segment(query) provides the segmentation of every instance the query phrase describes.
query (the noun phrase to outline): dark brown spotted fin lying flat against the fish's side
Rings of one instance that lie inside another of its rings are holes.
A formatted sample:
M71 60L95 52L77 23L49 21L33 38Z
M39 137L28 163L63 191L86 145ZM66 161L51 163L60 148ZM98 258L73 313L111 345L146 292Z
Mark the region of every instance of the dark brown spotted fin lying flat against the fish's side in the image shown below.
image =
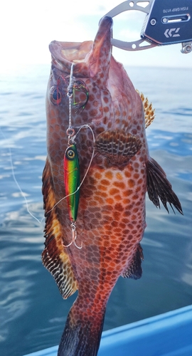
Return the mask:
M117 166L127 164L141 147L138 137L123 130L104 131L95 140L95 150Z

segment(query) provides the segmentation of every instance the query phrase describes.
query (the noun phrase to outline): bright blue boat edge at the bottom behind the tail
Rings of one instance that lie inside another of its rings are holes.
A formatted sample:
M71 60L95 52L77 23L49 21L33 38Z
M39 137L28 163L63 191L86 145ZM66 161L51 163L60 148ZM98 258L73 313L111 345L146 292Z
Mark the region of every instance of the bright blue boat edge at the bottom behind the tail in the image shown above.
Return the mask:
M58 346L25 356L56 356ZM191 356L192 305L107 330L98 356Z

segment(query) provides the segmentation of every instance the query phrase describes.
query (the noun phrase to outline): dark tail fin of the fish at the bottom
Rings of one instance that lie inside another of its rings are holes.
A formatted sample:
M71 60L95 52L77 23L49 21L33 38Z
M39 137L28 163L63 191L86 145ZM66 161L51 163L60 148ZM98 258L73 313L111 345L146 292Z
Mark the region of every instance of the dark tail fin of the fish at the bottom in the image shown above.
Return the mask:
M80 310L78 303L70 309L60 340L58 356L97 356L105 318L97 310Z

